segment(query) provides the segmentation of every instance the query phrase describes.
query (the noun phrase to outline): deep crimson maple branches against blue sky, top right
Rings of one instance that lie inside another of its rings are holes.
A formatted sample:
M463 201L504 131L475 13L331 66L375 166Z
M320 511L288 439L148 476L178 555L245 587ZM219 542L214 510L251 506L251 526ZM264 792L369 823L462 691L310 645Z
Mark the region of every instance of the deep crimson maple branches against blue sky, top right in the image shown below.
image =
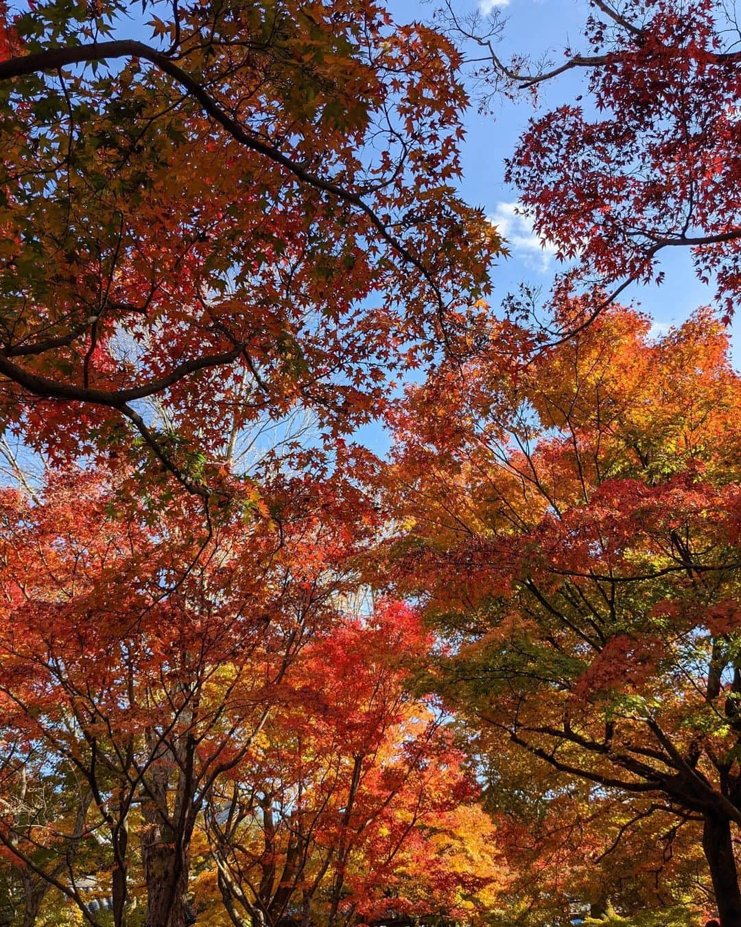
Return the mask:
M584 75L584 94L537 113L507 161L536 234L566 261L553 303L564 293L588 296L564 322L584 324L633 281L660 281L662 252L686 248L729 319L741 236L734 11L721 0L589 7L584 47L548 52L545 64L501 54L498 13L487 24L450 4L445 18L473 46L484 108L490 95L536 98L565 72Z

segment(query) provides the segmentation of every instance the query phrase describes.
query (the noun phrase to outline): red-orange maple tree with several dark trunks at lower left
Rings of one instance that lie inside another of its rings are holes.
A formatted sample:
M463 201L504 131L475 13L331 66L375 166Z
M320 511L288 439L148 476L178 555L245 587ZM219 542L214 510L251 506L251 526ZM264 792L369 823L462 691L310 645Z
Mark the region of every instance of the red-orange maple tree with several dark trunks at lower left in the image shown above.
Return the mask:
M206 547L191 496L180 510L170 500L121 511L110 473L77 471L50 476L38 504L6 490L6 767L22 773L28 744L47 768L72 769L91 796L82 831L68 820L19 834L8 795L0 840L91 923L79 878L86 858L70 848L94 833L106 838L116 924L126 920L136 852L147 924L182 927L205 796L249 750L297 654L331 627L345 558L367 534L358 490L345 489L284 477L270 495L280 527L225 508Z

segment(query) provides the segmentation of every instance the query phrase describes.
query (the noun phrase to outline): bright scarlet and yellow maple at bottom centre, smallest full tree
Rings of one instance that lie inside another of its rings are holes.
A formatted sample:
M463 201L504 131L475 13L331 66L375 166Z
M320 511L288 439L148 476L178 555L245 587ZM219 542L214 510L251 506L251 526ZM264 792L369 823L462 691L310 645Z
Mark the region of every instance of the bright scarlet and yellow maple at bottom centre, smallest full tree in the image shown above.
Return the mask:
M443 717L405 689L429 642L413 610L381 603L306 648L282 710L207 796L236 927L475 921L496 903L494 825Z

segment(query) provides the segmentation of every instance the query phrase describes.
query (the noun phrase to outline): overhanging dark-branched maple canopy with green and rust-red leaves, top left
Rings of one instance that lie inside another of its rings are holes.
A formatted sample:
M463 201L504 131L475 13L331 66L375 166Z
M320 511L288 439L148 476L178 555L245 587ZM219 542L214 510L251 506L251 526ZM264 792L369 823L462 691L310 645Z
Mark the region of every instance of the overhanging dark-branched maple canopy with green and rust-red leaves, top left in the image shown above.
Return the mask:
M368 0L0 23L6 428L57 458L138 447L207 495L222 422L304 406L349 431L458 344L498 241L453 188L440 34Z

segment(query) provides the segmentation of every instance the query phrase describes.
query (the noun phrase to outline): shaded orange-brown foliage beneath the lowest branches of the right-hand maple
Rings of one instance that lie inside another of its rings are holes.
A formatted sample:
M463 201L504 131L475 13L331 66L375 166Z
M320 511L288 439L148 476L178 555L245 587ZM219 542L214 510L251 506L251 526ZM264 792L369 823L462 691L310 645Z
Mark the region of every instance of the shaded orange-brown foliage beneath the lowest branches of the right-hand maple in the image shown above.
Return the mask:
M626 927L704 922L707 863L697 832L643 817L624 795L559 777L525 751L492 749L481 731L470 737L484 757L487 802L512 873L497 925L555 927L577 916Z

